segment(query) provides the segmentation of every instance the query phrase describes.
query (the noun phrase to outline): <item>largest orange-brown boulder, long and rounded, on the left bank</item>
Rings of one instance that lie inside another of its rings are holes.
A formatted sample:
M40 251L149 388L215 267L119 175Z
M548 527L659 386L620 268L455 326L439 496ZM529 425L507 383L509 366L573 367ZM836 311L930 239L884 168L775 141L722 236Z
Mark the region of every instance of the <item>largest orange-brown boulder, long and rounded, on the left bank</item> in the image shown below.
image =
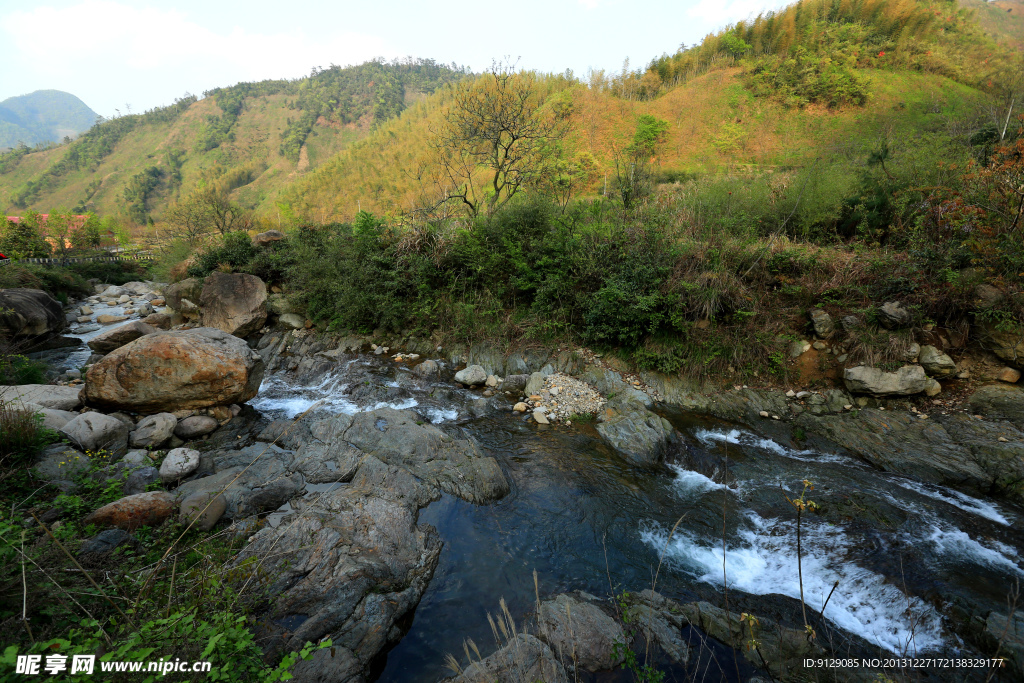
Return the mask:
M263 360L220 330L157 332L112 351L85 375L90 405L173 413L243 403L259 391Z

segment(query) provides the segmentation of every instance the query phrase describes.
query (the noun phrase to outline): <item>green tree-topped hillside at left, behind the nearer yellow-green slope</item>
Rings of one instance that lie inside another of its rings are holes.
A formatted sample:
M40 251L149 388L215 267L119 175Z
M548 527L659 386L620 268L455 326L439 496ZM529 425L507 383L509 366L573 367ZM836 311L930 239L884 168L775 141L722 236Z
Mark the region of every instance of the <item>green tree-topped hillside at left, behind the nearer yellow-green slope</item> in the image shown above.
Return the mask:
M216 181L244 207L271 210L283 186L464 75L432 60L377 60L184 97L103 121L70 144L0 156L0 206L143 223Z

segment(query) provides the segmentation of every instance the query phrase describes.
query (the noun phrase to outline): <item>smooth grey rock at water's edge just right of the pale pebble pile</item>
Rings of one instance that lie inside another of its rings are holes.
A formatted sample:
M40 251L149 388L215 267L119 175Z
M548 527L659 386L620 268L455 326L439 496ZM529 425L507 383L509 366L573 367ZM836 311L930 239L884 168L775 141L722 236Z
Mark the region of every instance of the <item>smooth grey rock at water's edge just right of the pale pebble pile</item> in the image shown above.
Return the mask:
M609 402L599 413L597 433L637 467L654 467L665 457L674 429L635 400Z

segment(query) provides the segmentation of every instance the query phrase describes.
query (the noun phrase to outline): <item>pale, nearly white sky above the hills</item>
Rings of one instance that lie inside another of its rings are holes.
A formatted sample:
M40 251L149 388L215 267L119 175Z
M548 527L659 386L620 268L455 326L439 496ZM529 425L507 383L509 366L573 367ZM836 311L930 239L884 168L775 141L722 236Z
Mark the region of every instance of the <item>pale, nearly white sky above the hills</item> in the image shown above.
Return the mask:
M112 117L313 67L495 59L585 77L643 68L785 0L0 0L0 100L55 89Z

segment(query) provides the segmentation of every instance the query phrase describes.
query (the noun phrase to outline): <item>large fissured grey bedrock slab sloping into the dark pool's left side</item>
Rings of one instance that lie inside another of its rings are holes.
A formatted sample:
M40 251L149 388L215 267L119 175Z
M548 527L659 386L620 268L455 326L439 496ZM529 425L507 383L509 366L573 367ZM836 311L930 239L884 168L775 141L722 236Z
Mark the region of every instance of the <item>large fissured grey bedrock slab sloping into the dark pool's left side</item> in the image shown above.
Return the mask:
M236 565L256 558L270 578L258 634L269 655L334 643L298 663L296 680L367 680L375 656L400 637L396 623L416 607L440 554L436 530L417 524L419 508L436 498L403 468L368 457L349 486L257 531L239 553ZM281 624L296 614L303 618Z

